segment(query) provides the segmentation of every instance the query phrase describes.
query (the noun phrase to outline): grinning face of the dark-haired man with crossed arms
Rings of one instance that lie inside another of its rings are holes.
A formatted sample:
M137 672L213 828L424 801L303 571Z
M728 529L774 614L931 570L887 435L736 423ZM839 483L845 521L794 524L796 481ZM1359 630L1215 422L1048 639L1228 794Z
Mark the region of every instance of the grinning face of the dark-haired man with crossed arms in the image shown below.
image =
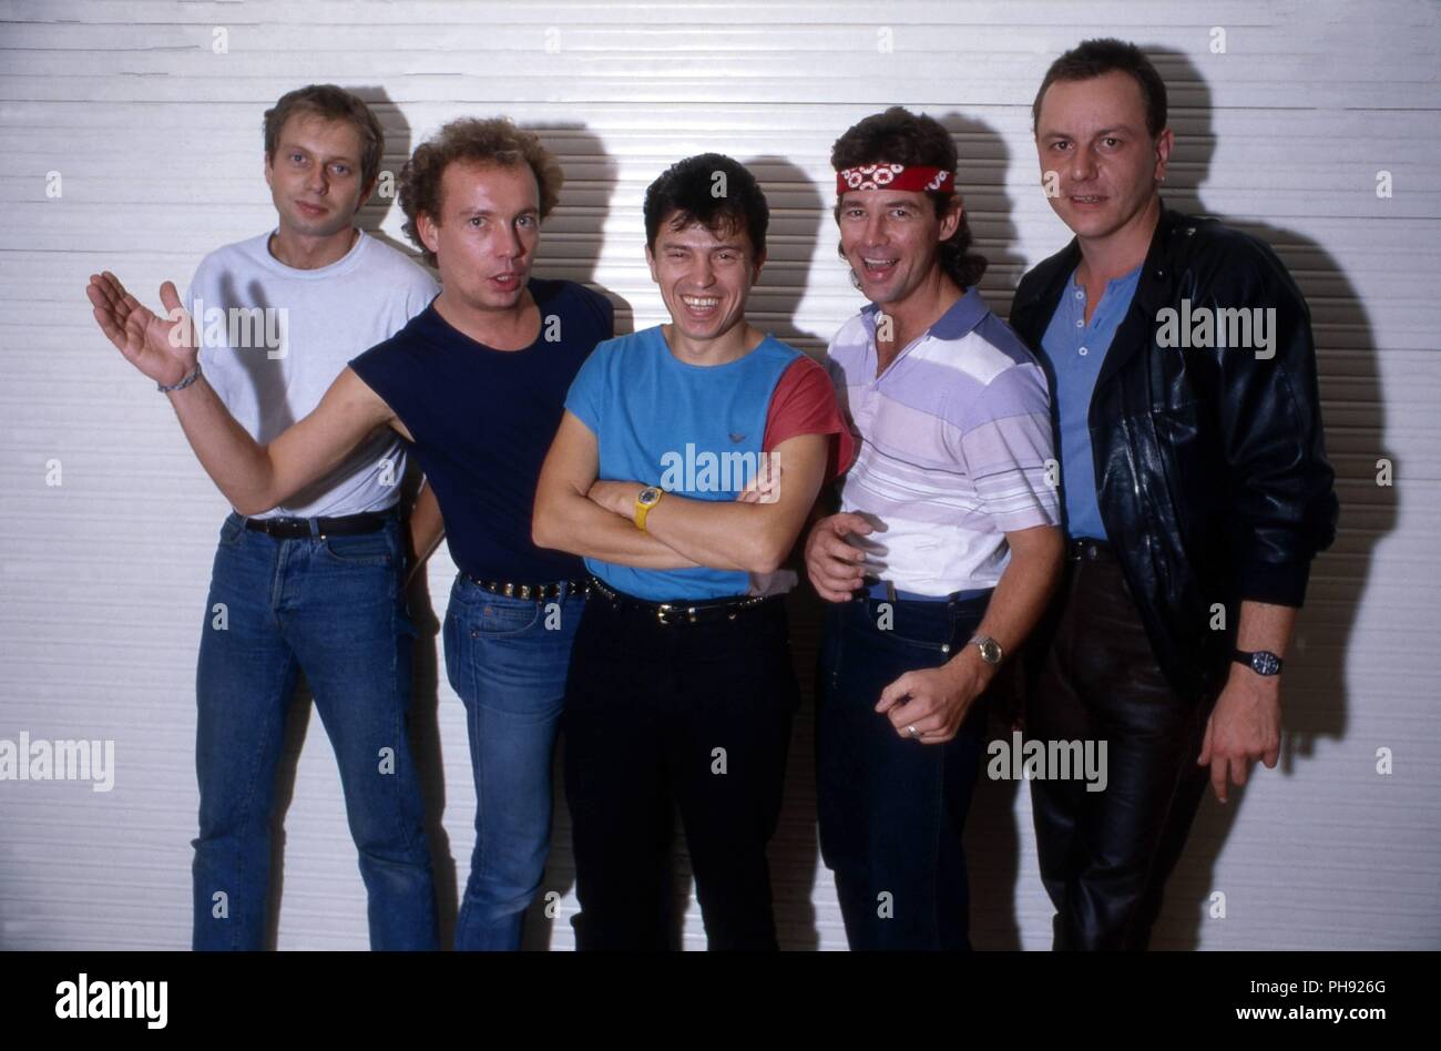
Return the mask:
M672 212L661 221L646 262L676 332L705 345L745 323L745 301L765 257L755 255L739 223L713 231L693 222L674 229L674 218Z

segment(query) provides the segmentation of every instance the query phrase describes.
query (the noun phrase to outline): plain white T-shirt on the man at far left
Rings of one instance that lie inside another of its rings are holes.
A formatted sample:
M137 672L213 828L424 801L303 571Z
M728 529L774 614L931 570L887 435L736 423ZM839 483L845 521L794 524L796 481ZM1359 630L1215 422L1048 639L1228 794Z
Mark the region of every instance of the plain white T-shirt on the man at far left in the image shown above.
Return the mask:
M183 300L200 333L205 378L262 444L308 415L352 358L399 332L440 291L365 231L320 270L287 267L269 254L269 236L206 255ZM403 473L399 435L378 427L330 474L255 518L385 510L399 499Z

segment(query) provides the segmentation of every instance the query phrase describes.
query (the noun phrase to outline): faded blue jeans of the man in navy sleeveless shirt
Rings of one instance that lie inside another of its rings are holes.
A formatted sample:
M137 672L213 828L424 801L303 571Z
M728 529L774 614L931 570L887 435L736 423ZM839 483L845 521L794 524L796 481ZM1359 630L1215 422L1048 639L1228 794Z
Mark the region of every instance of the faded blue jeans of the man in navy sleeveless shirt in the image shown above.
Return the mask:
M550 763L585 597L496 595L464 574L445 611L445 673L465 704L476 849L457 950L516 950L550 851Z

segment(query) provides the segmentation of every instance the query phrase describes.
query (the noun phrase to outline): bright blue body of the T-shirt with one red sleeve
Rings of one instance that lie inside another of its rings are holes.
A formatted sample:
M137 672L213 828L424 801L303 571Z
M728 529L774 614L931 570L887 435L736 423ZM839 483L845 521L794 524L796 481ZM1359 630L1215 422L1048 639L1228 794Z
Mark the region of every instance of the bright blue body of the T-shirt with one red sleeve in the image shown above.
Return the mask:
M595 434L601 479L733 500L759 470L771 396L800 356L767 336L733 362L687 365L656 326L595 347L565 407ZM755 590L741 569L635 569L597 558L585 567L617 591L650 601Z

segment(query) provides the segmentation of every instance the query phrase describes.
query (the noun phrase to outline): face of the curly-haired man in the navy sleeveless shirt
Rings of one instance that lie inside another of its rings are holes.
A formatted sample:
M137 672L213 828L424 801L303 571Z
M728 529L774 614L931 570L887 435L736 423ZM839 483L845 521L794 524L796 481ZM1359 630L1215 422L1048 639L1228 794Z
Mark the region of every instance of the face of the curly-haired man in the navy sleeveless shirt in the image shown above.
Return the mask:
M529 166L457 160L441 174L440 219L416 216L445 293L473 310L513 310L540 241L540 187Z

